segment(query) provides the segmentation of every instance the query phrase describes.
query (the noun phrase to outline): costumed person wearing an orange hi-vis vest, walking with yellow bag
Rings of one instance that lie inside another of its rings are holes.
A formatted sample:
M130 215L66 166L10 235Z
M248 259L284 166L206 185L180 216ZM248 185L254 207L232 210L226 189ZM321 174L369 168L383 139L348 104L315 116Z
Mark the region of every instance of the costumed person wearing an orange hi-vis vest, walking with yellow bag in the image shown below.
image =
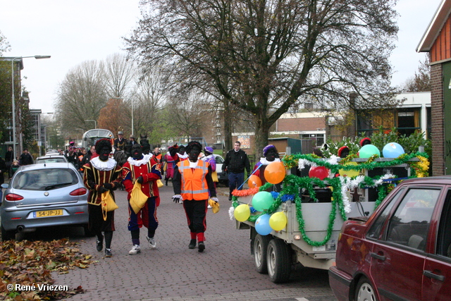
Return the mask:
M206 211L208 199L218 202L216 188L211 178L211 166L199 160L202 145L197 141L186 147L188 160L178 162L174 169L174 202L183 202L183 208L190 228L191 240L188 248L194 249L198 241L198 251L205 250Z

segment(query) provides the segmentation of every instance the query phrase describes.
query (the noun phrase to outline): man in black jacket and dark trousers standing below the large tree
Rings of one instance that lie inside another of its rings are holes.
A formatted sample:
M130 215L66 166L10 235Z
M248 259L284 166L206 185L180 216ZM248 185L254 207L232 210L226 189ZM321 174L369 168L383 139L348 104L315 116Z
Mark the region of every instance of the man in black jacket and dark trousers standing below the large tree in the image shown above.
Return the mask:
M247 174L251 172L251 164L245 151L240 149L240 141L235 142L235 147L228 151L226 160L223 163L223 171L228 172L228 188L230 190L228 200L232 200L232 192L235 188L241 190L241 185L245 181L245 168Z

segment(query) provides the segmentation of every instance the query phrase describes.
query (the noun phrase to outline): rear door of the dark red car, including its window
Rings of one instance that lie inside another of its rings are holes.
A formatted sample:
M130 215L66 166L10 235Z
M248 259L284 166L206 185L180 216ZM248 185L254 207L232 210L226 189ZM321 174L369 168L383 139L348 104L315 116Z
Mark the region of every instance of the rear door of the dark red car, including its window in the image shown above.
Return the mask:
M426 242L440 188L410 188L371 252L370 274L381 300L422 300Z

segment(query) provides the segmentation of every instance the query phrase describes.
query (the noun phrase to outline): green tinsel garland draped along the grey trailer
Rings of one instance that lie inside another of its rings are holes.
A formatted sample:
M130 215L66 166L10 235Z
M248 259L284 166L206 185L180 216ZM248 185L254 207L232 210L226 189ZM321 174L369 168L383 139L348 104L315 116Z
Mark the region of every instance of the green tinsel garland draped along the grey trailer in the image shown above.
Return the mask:
M376 161L372 161L371 159L373 159L373 158L371 158L369 160L371 162L359 163L358 166L353 166L353 165L330 164L327 161L323 161L322 159L319 159L317 156L314 156L311 154L304 154L304 155L300 154L300 155L285 156L285 158L283 159L283 163L285 164L285 166L288 166L288 168L290 168L290 167L297 166L297 161L299 161L299 159L307 159L309 161L314 162L318 166L326 166L326 168L329 168L330 171L332 171L333 173L338 173L338 171L340 169L344 169L347 171L348 170L360 170L363 168L372 170L374 168L384 168L384 167L388 167L388 166L404 164L404 163L408 163L409 160L411 160L412 158L414 158L416 156L425 156L426 158L428 157L427 154L425 154L423 152L417 152L414 154L403 154L402 156L399 156L398 158L393 159L393 161L376 162ZM359 188L376 187L374 181L379 180L380 178L381 178L381 176L378 176L375 178L370 178L368 176L365 176L364 180L362 180L362 182L359 183ZM330 214L329 214L329 223L328 223L326 237L322 241L311 240L307 236L307 233L305 231L305 222L304 222L304 218L302 216L302 201L301 201L301 198L299 197L299 190L301 188L304 188L309 192L310 197L315 199L316 193L314 190L314 186L318 186L319 188L326 187L326 183L324 183L324 181L320 180L319 178L309 178L309 177L299 178L294 175L285 176L285 179L283 181L283 190L280 191L278 197L275 199L275 201L273 202L271 207L268 208L267 210L265 210L264 212L261 212L260 214L254 214L254 215L249 216L249 219L247 219L247 220L251 221L251 222L255 222L263 214L273 214L274 212L276 212L276 210L282 203L283 195L294 195L295 204L296 204L296 217L297 217L297 222L299 223L299 231L302 234L302 239L305 242L307 242L309 245L314 246L314 247L319 247L321 245L325 245L326 242L328 242L328 240L330 240L330 237L333 232L333 225L335 223L337 206L340 211L340 215L341 215L342 219L344 221L347 219L346 212L345 212L345 204L343 202L342 194L341 194L342 185L341 185L340 178L330 178L330 179L328 178L327 181L328 181L328 185L333 188L333 192L332 192L333 201L331 203L332 206L331 206L331 210L330 210ZM259 191L268 190L272 186L273 186L273 184L266 183L259 188ZM381 204L382 200L387 195L388 195L388 192L387 192L387 189L385 188L385 186L380 185L380 187L378 189L378 199L376 200L375 207L378 207L378 205ZM235 208L240 204L239 202L237 202L237 197L233 196L232 204L233 204L233 207L235 207Z

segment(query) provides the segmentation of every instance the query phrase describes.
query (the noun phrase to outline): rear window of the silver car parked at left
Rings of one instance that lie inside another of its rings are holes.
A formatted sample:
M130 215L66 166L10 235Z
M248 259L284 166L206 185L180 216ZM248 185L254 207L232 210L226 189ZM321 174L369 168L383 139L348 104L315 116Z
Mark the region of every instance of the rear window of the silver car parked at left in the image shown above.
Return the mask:
M70 168L49 168L23 171L14 178L13 188L20 190L52 190L78 183Z

